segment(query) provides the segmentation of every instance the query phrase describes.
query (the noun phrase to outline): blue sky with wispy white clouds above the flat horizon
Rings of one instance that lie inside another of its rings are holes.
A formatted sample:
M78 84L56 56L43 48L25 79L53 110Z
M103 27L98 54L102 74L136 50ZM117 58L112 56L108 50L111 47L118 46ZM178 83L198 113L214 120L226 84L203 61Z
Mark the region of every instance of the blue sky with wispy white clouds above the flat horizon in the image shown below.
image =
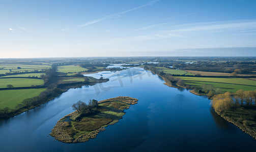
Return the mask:
M256 56L256 1L0 1L0 58Z

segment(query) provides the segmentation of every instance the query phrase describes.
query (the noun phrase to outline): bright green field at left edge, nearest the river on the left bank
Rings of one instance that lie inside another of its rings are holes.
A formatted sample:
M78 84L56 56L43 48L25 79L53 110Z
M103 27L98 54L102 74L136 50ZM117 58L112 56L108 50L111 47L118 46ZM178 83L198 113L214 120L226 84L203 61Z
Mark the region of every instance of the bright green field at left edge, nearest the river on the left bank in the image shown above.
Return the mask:
M15 108L24 99L38 96L46 89L22 89L22 90L2 90L0 91L0 108Z

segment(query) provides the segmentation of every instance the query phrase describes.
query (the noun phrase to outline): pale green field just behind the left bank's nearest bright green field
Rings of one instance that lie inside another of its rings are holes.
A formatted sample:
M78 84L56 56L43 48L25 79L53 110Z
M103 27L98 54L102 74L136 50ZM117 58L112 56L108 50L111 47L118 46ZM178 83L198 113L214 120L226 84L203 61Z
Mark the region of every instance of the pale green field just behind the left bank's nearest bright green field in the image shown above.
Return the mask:
M0 79L0 88L7 88L7 85L13 87L31 87L31 85L43 85L44 81L39 79L23 79L23 78L10 78Z

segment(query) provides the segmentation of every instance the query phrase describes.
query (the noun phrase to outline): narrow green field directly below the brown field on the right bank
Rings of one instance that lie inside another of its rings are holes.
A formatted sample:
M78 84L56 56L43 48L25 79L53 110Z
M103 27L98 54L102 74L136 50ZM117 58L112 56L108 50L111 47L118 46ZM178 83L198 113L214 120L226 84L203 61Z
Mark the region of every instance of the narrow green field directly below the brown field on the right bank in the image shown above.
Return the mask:
M204 81L204 82L217 82L217 83L256 86L256 81L243 79L243 78L201 78L201 77L178 77L178 78L185 81Z

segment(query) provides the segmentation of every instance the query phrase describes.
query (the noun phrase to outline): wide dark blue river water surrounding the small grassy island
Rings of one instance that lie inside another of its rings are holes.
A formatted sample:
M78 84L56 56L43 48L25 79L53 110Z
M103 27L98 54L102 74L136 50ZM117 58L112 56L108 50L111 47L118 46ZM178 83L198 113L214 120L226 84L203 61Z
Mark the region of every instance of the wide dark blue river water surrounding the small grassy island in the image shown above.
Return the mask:
M142 68L103 71L107 83L70 89L61 96L0 122L0 151L255 151L256 141L223 121L210 100L163 85ZM101 77L101 75L99 76ZM130 96L138 103L125 110L119 123L95 139L63 143L49 135L57 121L81 100ZM47 136L48 135L48 136Z

